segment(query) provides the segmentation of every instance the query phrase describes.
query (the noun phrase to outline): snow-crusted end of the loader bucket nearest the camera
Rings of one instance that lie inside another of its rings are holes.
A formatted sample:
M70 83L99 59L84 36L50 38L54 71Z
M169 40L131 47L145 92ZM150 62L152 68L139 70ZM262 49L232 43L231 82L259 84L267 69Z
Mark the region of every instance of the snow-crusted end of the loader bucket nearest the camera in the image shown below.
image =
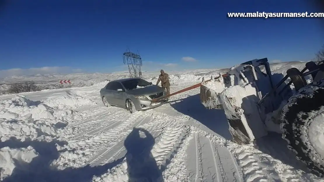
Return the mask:
M258 110L257 91L251 84L228 87L218 96L223 103L234 142L249 144L268 134L261 122L263 115Z

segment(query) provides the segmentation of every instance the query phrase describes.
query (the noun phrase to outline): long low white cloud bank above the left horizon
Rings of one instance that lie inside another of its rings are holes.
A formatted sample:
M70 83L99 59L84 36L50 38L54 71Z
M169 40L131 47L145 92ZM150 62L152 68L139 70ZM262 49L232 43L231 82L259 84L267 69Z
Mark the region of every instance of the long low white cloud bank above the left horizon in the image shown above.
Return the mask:
M10 77L10 76L29 76L37 74L67 74L67 73L79 73L81 69L72 69L70 67L41 67L41 68L12 68L8 70L0 70L0 78Z

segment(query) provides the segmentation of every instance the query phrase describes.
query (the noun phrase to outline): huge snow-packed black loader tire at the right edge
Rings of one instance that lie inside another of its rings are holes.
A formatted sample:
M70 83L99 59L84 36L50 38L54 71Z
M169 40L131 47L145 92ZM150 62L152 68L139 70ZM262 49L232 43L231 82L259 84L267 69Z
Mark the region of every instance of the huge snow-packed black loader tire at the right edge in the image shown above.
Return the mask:
M282 138L296 158L324 176L324 80L301 88L284 106Z

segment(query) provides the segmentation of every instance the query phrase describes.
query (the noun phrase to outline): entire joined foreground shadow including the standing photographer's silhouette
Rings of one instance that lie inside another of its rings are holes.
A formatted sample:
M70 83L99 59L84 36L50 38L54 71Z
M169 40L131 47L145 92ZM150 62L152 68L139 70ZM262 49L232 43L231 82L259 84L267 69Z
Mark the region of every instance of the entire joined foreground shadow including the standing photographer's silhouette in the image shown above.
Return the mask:
M145 137L143 137L145 135ZM68 167L64 170L58 170L55 166L50 166L53 160L58 159L60 152L56 145L64 146L67 142L53 140L52 142L45 141L24 141L21 142L15 137L10 138L5 142L0 142L0 148L27 148L32 146L38 156L30 163L25 163L14 159L15 169L11 176L6 177L3 182L88 182L94 176L101 176L118 164L121 164L126 158L127 172L129 182L133 181L151 181L162 182L162 170L156 164L154 157L151 154L151 149L155 144L155 139L146 130L142 128L133 128L133 131L127 136L124 141L127 150L126 156L121 157L114 162L102 166L84 166L79 168ZM146 179L146 180L145 180Z

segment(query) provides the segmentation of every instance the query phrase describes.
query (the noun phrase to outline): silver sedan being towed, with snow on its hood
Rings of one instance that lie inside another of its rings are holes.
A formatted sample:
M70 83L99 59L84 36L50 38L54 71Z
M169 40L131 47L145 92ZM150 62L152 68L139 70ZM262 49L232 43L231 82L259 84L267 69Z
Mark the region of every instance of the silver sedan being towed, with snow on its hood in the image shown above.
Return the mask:
M164 88L140 78L110 81L100 90L102 102L106 107L118 106L130 113L158 107L168 101L167 98L163 98L166 95ZM158 101L152 102L153 99Z

